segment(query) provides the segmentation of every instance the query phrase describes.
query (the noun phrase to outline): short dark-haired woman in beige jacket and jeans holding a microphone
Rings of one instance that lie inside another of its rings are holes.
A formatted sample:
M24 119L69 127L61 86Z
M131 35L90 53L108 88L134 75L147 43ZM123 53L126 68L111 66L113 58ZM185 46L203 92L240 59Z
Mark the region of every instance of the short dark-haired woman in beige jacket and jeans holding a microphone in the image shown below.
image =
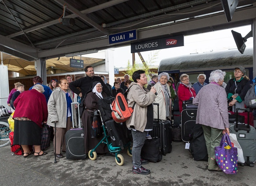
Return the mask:
M137 70L132 74L134 82L130 84L127 90L127 102L130 107L134 105L134 112L127 119L126 126L131 129L133 138L132 147L132 172L135 174L148 175L150 170L141 165L148 163L140 157L141 148L144 145L147 131L153 129L153 102L155 100L155 88L150 91L143 87L146 85L147 77L144 70Z

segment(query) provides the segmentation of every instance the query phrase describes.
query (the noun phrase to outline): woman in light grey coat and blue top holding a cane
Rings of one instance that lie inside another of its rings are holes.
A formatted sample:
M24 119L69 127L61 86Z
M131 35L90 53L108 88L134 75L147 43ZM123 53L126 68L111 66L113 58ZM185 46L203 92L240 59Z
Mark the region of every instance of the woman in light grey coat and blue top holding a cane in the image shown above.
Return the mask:
M59 81L59 87L57 87L51 94L48 101L48 120L47 124L54 127L56 122L56 144L53 139L53 145L56 145L56 157L63 158L64 156L60 153L66 152L65 133L71 128L71 117L74 118L76 123L75 112L72 115L71 107L75 111L75 106L71 105L74 102L73 93L69 90L69 82L66 79ZM74 123L74 124L75 124Z

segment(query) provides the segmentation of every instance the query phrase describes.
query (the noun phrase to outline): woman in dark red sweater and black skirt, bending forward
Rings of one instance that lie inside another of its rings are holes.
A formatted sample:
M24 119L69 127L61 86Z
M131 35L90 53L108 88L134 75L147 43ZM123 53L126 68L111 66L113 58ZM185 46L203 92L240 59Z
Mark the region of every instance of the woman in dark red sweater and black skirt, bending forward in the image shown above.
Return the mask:
M20 94L14 101L14 145L21 145L24 158L33 154L29 145L34 145L34 156L43 156L47 152L41 151L42 122L47 122L48 110L46 98L41 84L34 85L33 89Z

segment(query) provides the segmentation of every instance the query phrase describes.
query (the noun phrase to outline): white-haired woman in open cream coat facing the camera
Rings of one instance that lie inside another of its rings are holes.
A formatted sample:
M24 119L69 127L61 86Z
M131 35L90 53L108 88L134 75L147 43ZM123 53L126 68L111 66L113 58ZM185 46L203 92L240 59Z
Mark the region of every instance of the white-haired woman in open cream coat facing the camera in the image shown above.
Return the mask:
M159 119L171 118L171 94L170 87L167 84L169 80L169 74L166 72L158 75L158 82L154 87L157 90L157 97L155 97L154 103L159 103ZM154 118L158 118L157 106L154 105Z

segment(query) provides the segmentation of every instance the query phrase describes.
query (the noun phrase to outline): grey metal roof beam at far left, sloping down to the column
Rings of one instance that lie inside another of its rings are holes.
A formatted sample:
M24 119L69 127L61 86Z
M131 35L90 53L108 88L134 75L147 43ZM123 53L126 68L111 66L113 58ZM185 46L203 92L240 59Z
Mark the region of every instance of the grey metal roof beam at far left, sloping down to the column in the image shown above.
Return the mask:
M0 35L0 41L1 41L0 46L3 46L4 48L14 50L18 53L27 55L28 57L31 57L33 59L37 58L37 49L35 49L29 45L20 43L19 41L15 41L15 40L7 38L3 35ZM5 51L3 51L3 52L5 52ZM6 52L6 53L11 54L9 52ZM15 56L17 56L17 55L15 55Z

